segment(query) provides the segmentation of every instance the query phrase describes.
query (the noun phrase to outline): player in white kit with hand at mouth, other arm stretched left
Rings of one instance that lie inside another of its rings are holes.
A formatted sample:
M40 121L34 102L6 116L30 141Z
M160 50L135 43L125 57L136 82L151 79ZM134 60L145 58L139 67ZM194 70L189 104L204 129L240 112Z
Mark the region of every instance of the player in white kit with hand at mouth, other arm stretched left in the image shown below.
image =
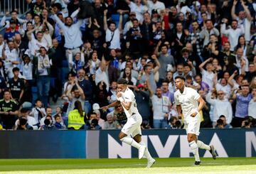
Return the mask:
M119 133L119 140L137 148L139 150L139 159L145 156L147 159L146 167L150 168L155 163L155 160L151 157L145 143L142 142L142 129L140 126L142 124L142 116L138 112L134 93L127 87L127 80L124 78L117 80L117 91L117 101L101 109L107 110L110 107L122 104L127 115L127 123L124 124Z

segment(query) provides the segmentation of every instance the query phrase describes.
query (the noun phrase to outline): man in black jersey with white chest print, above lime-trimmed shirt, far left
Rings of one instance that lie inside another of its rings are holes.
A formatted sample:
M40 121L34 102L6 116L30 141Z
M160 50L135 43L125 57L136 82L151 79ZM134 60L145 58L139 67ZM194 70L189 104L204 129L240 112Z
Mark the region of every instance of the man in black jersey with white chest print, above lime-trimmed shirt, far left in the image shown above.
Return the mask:
M18 77L20 73L18 67L14 67L12 72L14 73L14 77L9 80L7 87L11 92L11 99L14 99L17 103L19 103L23 97L24 82Z

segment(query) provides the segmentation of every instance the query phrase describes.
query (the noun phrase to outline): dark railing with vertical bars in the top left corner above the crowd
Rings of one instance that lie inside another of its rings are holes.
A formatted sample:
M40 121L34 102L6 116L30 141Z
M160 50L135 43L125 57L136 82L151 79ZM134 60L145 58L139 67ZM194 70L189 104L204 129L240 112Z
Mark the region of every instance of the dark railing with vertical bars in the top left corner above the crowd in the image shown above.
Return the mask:
M0 16L4 16L6 11L17 9L19 14L28 11L28 4L26 0L1 0L0 1Z

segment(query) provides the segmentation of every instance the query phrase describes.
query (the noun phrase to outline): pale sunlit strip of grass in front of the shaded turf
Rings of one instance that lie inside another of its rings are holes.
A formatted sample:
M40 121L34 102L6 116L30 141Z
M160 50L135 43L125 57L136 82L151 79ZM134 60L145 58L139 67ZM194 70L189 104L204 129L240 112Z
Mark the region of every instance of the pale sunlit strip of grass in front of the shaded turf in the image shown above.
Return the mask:
M17 171L0 172L4 174L17 173ZM126 173L256 173L256 165L213 165L213 166L195 166L195 167L169 167L169 168L101 168L101 169L73 169L73 170L36 170L36 171L18 171L19 174L126 174Z

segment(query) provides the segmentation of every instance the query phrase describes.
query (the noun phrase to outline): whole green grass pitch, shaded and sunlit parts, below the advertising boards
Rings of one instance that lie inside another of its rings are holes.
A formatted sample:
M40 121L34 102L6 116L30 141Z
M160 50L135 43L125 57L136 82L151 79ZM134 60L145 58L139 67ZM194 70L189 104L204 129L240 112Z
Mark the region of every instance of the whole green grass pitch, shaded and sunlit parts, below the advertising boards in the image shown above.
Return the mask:
M0 173L256 173L256 158L156 158L152 168L146 159L1 159Z

